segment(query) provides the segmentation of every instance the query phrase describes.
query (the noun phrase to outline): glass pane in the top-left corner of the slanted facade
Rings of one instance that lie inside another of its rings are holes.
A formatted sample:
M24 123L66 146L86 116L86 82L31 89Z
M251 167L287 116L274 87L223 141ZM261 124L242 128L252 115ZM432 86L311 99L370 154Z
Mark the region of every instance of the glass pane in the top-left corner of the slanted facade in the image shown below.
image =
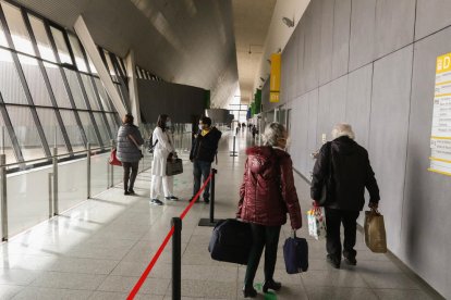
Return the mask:
M28 30L26 29L24 20L22 18L21 10L3 1L1 2L1 7L3 8L15 50L35 55L35 50L33 49L33 43L29 40Z

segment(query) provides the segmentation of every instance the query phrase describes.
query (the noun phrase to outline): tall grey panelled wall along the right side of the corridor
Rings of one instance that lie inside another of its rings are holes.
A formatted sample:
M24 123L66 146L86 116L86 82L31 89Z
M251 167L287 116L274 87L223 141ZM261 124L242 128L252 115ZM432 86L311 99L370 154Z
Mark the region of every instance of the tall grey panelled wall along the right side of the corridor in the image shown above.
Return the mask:
M436 58L451 52L451 1L313 0L282 53L294 166L338 122L368 149L389 249L451 298L451 177L430 173ZM265 96L265 95L264 95ZM359 220L362 222L362 218Z

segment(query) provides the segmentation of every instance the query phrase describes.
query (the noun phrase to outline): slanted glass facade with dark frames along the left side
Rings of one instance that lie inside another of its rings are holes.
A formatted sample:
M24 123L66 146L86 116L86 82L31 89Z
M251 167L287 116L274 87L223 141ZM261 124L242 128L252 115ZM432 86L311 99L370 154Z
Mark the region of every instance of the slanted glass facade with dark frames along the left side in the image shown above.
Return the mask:
M126 108L124 61L99 53ZM78 37L0 0L0 133L8 163L107 147L120 118Z

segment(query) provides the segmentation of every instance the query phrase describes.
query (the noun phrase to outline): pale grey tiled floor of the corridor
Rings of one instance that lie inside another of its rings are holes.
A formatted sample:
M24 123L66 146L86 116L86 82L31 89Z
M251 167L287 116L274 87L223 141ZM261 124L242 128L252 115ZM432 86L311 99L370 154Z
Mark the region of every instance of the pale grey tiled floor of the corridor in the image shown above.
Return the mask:
M220 218L234 216L245 160L243 150L249 143L246 134L240 134L240 157L233 159L229 157L230 141L224 134L217 166L216 217ZM192 167L190 163L184 167L184 174L175 177L181 201L149 205L147 172L138 176L135 197L124 197L119 187L110 189L2 243L0 299L125 299L167 235L171 217L187 205ZM306 211L308 186L295 177L302 209ZM183 299L240 299L245 267L210 259L207 245L211 228L197 226L208 211L207 204L195 204L183 221ZM275 276L283 288L264 297L260 267L256 278L259 299L437 298L388 257L368 251L359 233L357 266L343 265L338 271L325 262L325 241L308 238L304 225L300 234L309 242L309 270L288 275L281 249L289 234L290 227L284 226ZM171 243L136 299L171 299Z

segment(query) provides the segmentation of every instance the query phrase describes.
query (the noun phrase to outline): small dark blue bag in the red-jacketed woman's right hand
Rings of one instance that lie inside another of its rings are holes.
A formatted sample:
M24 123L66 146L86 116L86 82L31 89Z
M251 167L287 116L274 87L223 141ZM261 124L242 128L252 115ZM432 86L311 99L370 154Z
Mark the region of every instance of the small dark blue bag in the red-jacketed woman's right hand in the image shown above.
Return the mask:
M289 237L283 245L283 259L288 274L296 274L308 270L308 245L305 238Z

